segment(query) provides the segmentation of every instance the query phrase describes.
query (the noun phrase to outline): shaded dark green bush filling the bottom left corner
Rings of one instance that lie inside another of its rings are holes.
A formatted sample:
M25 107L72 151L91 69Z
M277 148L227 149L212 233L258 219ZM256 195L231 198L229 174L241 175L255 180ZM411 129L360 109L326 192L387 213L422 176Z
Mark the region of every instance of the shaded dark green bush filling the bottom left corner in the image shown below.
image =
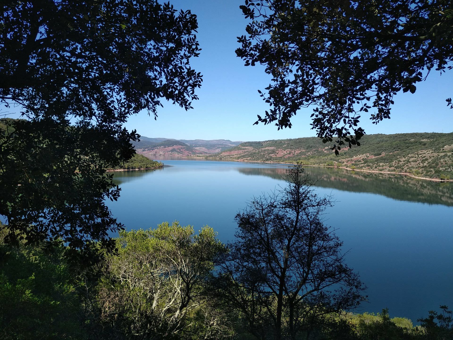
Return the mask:
M0 238L0 339L88 339L61 245L14 247Z

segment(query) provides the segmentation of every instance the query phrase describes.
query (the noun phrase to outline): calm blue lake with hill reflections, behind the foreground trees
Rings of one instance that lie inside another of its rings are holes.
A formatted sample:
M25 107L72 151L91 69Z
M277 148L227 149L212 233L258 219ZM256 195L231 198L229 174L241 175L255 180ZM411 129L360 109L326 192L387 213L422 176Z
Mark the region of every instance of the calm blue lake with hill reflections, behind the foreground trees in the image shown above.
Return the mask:
M164 160L159 170L115 173L118 202L108 202L127 229L179 221L209 225L226 242L234 216L252 196L284 185L287 165ZM439 305L453 307L453 183L401 175L306 167L318 194L333 194L326 224L337 228L346 262L368 287L357 312L408 317L414 324Z

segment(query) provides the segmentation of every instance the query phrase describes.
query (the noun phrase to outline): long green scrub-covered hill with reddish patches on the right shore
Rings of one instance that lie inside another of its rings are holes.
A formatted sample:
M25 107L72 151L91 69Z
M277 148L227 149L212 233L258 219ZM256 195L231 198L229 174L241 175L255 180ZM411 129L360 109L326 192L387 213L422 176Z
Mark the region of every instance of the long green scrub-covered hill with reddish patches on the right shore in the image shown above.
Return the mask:
M453 133L365 135L361 146L343 148L336 156L317 137L244 142L215 158L305 165L339 166L358 170L404 172L415 176L453 178Z

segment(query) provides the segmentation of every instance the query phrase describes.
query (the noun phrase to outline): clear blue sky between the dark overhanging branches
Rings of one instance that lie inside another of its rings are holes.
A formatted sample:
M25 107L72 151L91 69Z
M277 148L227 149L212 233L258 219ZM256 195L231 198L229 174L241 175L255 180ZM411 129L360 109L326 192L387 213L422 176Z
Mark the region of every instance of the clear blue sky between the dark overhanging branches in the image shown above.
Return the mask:
M293 127L277 131L275 125L252 125L256 115L269 107L257 90L269 84L270 77L260 65L245 67L236 57L236 37L245 34L247 20L239 6L244 0L170 0L178 9L190 9L198 16L197 38L200 57L191 65L203 75L198 101L193 110L185 111L164 102L154 121L146 112L130 117L125 126L148 137L176 139L230 139L263 141L314 136L310 130L308 108L293 117ZM417 91L395 97L391 119L377 126L363 116L361 126L367 134L400 132L452 132L453 110L445 99L453 97L453 73L432 72L427 81L417 84Z

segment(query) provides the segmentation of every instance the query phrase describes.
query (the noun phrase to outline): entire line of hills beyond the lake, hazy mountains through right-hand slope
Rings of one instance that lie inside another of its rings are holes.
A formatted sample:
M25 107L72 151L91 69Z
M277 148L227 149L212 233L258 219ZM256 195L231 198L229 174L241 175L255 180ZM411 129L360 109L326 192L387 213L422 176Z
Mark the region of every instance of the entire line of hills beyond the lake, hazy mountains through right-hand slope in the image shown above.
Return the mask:
M433 179L453 179L452 133L365 135L361 146L344 147L336 156L318 137L270 141L176 140L141 137L137 153L149 158L201 156L261 162L302 162L357 170L388 171Z

